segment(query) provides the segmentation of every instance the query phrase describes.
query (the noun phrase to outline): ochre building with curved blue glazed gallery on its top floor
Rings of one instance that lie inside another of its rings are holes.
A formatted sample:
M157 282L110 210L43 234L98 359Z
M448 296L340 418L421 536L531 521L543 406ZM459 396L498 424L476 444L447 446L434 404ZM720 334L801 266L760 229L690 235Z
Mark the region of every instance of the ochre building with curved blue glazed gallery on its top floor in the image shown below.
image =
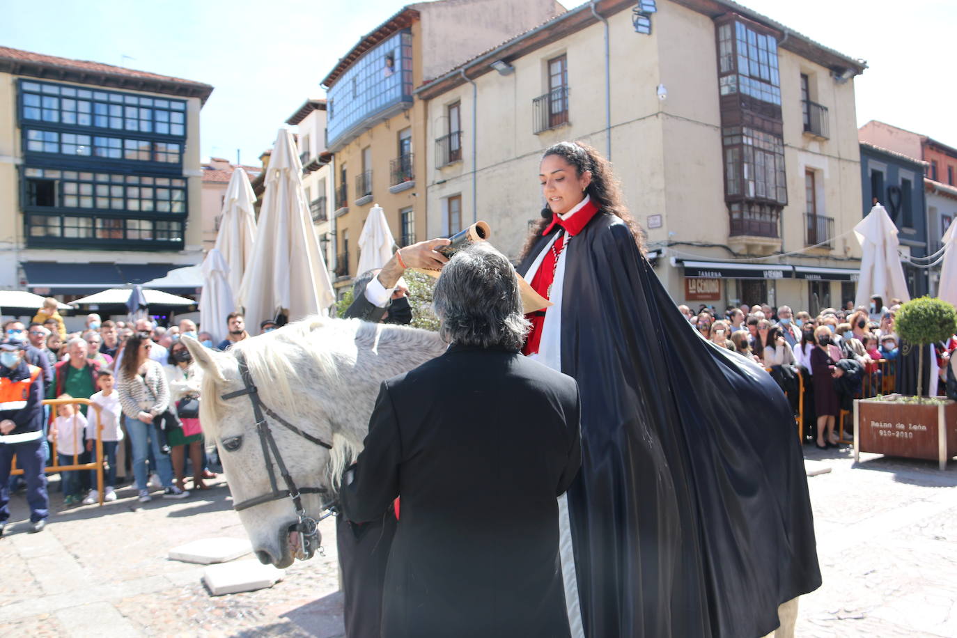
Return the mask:
M414 87L562 11L552 0L409 5L364 36L323 79L338 285L356 275L358 241L373 206L385 210L397 247L427 238L421 177L432 142Z

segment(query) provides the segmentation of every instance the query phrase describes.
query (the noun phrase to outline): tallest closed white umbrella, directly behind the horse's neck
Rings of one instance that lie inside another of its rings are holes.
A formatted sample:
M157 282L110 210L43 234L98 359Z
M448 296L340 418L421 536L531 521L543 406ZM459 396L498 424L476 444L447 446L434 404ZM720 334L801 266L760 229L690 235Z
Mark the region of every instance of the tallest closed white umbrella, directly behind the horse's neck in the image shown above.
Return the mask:
M290 321L326 315L335 301L301 174L293 136L279 129L266 170L253 258L236 296L246 325L257 326L279 313Z

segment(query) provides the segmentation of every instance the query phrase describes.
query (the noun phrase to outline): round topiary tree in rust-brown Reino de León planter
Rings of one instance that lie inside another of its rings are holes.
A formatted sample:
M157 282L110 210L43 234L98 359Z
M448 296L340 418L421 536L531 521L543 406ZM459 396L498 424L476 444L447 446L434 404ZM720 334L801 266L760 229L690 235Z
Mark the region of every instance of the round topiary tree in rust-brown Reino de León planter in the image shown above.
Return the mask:
M901 306L894 330L918 348L917 396L899 394L854 402L854 459L861 451L891 456L935 459L941 470L957 453L957 403L924 397L924 350L957 332L957 313L946 301L920 297Z

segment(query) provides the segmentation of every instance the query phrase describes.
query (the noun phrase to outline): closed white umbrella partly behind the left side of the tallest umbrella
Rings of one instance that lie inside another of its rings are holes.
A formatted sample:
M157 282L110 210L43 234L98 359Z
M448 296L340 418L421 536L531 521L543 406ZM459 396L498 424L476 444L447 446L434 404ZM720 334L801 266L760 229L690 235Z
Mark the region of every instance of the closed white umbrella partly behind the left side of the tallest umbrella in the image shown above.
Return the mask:
M249 176L237 166L226 187L214 246L229 266L228 283L234 297L239 292L239 285L256 245L255 207L256 193L249 183Z

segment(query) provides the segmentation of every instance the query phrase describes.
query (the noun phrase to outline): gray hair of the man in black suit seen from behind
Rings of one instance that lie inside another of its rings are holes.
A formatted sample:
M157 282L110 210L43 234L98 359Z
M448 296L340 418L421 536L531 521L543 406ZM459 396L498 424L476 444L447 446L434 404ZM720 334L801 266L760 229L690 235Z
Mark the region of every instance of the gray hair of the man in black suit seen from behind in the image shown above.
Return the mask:
M442 267L433 307L445 341L474 347L522 349L531 324L522 313L515 269L484 242L464 248Z

